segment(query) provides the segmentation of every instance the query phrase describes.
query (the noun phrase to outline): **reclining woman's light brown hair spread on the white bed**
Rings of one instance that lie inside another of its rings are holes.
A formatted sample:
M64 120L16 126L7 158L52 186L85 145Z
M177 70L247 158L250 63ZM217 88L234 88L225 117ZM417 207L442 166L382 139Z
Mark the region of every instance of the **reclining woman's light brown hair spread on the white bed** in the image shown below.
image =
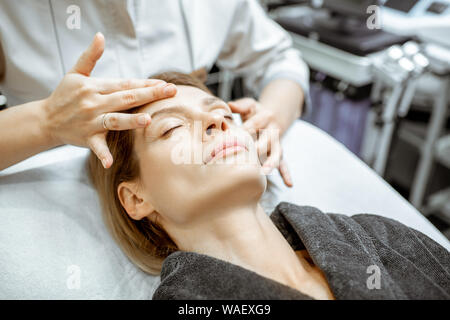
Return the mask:
M193 75L165 72L151 78L175 85L193 86L211 93ZM135 113L138 108L127 113ZM120 183L139 179L139 163L134 152L134 133L130 130L108 131L106 142L114 159L109 169L103 168L93 152L89 157L90 176L100 198L103 220L128 258L143 271L157 275L161 272L164 259L178 248L159 224L147 217L142 220L130 218L117 194Z

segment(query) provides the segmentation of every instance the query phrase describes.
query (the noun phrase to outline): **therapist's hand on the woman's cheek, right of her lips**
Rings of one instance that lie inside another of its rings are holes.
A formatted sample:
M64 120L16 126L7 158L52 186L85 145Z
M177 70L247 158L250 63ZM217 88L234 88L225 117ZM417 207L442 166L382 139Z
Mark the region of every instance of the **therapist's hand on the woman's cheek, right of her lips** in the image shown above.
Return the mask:
M264 108L252 98L242 98L228 102L232 112L241 115L244 128L257 138L256 150L263 165L265 174L278 168L284 183L292 187L292 178L286 162L283 160L281 148L282 130L274 112Z

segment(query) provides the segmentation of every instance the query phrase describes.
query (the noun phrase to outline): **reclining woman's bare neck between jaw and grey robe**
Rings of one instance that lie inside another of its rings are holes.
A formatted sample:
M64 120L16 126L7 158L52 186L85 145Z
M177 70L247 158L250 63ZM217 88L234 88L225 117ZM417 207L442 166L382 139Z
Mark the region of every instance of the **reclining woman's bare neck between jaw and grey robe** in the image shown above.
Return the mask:
M180 249L228 261L291 287L308 278L307 264L257 202L220 211L209 211L208 220L177 230Z

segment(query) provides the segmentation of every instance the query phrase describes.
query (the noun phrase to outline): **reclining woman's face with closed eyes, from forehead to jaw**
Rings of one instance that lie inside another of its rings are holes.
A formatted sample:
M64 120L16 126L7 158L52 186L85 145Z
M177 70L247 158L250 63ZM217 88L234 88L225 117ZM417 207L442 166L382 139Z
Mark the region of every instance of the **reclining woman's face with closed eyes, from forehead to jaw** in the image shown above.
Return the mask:
M195 87L177 88L174 97L139 110L152 121L135 131L138 196L175 224L233 203L256 203L266 177L251 135L233 121L222 100Z

